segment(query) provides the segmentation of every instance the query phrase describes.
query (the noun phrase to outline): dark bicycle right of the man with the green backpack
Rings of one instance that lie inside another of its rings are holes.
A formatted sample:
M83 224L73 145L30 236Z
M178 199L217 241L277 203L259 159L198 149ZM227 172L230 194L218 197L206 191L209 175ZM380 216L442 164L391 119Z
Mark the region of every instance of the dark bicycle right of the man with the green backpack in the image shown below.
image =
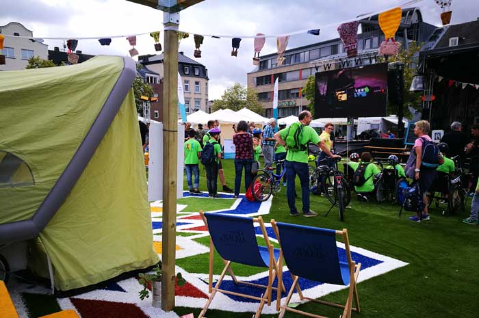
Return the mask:
M334 165L327 164L331 161L334 161ZM328 216L331 209L337 206L339 207L339 220L344 221L344 211L351 202L351 191L348 181L346 181L346 176L337 169L339 161L341 161L341 157L320 160L318 169L315 171L315 178L317 183L320 183L320 180L322 180L322 185L318 185L318 188L322 188L326 198L332 204L324 216Z

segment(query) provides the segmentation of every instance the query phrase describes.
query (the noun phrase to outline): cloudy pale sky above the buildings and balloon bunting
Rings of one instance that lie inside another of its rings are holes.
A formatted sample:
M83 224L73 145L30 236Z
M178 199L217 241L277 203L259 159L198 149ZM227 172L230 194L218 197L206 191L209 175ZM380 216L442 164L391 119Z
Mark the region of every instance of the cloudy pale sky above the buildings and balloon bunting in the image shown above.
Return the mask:
M404 0L205 0L181 12L180 30L197 34L233 34L250 36L257 33L283 34L300 29L315 29L343 21L359 14L375 12L403 3ZM0 25L22 23L36 37L88 37L140 34L163 29L163 13L125 0L0 0ZM361 5L358 5L361 3ZM424 21L441 25L441 9L435 0L416 4ZM361 8L359 8L361 7ZM452 24L474 21L479 17L478 0L452 1ZM337 38L336 27L321 30L320 36L292 36L287 49ZM153 38L137 38L136 49L155 54ZM163 44L163 32L160 42ZM45 40L49 49L63 42ZM87 54L128 55L131 47L125 38L112 40L101 47L97 40L80 40L78 50ZM231 57L231 38L205 38L202 58L196 59L208 68L209 99L220 98L224 89L235 82L246 85L246 74L253 70L253 39L242 40L237 57ZM181 41L179 51L193 57L194 40ZM276 53L276 40L266 40L261 54Z

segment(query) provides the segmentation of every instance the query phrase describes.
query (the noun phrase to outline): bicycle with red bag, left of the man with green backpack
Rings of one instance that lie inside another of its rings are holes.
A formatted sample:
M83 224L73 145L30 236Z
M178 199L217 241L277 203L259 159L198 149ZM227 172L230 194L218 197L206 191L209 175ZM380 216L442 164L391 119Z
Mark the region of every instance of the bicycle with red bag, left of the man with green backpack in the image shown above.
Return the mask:
M274 174L274 168L270 167L268 170L260 169L258 174L251 181L253 197L259 202L266 201L270 196L276 195L281 191L281 178L286 173L285 160L274 161L273 165L282 164L283 171L281 174Z

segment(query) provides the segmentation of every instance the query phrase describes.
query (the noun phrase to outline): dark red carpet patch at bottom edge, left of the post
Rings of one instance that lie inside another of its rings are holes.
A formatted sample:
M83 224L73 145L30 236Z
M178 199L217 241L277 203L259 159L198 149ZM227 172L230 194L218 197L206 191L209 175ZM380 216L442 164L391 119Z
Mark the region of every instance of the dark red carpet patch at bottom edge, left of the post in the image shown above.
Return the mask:
M148 318L135 304L70 298L81 318Z

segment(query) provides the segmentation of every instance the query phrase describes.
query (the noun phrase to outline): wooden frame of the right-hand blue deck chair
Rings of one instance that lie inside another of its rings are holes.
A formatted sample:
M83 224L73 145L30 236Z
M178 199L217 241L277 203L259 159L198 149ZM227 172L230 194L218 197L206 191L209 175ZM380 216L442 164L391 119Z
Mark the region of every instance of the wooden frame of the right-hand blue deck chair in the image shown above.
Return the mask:
M279 228L276 224L276 221L274 219L271 220L271 225L274 229L274 233L276 234L276 238L278 239L279 245L281 247L281 238L279 236ZM351 317L351 310L354 310L357 313L361 312L361 308L359 308L359 296L358 296L358 291L357 291L357 278L359 276L359 271L361 269L361 263L356 264L354 261L351 259L351 251L349 247L349 239L348 239L348 230L346 228L343 228L343 230L336 230L336 235L337 236L342 236L344 238L344 247L346 249L346 257L348 258L348 268L350 272L350 284L349 284L349 292L348 292L348 299L346 300L345 305L341 304L336 304L333 302L326 302L324 300L316 300L313 298L305 297L305 295L302 294L301 287L299 284L299 276L295 276L294 274L291 273L291 276L293 278L293 284L291 289L289 289L289 293L287 294L286 300L283 303L283 305L280 306L281 311L279 313L279 318L283 318L286 311L292 311L293 313L298 313L301 315L309 316L309 317L316 317L316 318L326 318L324 316L320 315L314 315L312 313L307 313L302 310L298 310L296 308L290 308L288 307L289 302L291 301L291 297L294 293L294 289L298 291L298 296L300 297L300 300L309 300L311 302L316 302L318 304L324 304L328 306L334 306L334 307L339 307L339 308L344 308L343 314L341 315L341 318L350 318ZM281 248L281 255L283 255L283 250ZM280 271L278 272L278 282L283 282L283 257L278 262L278 267ZM280 296L280 293L278 293L278 297ZM354 299L353 299L354 297ZM354 300L354 303L356 304L356 307L352 307L352 302Z

